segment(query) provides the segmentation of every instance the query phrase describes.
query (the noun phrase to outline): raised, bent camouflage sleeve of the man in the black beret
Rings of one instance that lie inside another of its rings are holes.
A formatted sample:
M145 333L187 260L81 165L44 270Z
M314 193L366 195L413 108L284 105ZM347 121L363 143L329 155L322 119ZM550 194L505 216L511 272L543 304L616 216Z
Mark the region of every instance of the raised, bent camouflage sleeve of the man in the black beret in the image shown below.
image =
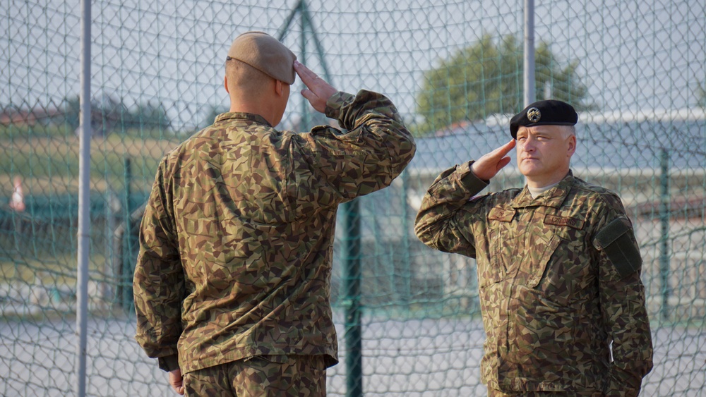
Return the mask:
M471 172L473 161L443 171L426 191L414 222L422 243L443 252L475 257L475 243L462 211L488 183Z

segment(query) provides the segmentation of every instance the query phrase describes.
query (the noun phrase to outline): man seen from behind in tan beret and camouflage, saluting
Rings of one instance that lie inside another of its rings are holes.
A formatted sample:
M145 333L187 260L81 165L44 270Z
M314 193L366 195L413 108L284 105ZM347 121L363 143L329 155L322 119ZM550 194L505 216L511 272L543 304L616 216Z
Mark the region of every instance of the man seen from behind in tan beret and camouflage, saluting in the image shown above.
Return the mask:
M295 72L347 129L280 131ZM231 108L169 152L140 226L136 339L189 396L321 396L338 361L330 277L339 204L414 156L390 100L337 92L262 32L234 40Z

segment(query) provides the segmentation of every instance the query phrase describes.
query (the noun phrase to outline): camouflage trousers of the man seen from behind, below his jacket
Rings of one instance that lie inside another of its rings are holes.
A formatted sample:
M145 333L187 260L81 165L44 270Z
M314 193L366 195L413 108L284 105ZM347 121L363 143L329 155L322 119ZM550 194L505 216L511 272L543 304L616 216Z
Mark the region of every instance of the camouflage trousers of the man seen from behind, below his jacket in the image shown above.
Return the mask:
M318 397L326 395L322 355L263 355L184 374L193 396Z

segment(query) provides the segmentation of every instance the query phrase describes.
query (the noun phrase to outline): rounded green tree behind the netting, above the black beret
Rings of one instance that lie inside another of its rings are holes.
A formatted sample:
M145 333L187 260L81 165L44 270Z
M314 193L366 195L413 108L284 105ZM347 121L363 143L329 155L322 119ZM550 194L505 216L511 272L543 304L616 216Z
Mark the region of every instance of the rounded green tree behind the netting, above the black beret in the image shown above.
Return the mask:
M491 35L457 51L438 68L424 73L417 111L424 121L416 133L429 133L461 121L477 121L491 114L522 110L522 41L513 35L499 43ZM587 87L578 78L578 61L560 66L549 44L539 42L534 54L537 99L561 99L578 110L587 104Z

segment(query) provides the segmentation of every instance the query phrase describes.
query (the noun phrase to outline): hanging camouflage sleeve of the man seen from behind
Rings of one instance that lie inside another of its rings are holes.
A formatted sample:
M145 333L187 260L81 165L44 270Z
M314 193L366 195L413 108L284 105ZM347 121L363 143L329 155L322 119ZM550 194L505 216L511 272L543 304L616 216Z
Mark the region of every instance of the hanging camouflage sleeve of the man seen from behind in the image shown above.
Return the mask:
M140 251L133 277L135 338L165 371L179 368L177 341L184 299L184 271L168 192L162 161L140 224Z

